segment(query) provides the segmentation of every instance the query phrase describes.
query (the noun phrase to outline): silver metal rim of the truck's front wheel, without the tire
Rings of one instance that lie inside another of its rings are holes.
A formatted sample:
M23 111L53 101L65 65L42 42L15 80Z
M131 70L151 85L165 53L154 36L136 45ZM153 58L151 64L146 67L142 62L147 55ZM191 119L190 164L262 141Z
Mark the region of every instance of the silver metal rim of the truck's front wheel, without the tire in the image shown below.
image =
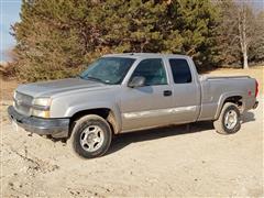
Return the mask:
M79 141L85 151L95 152L101 147L103 140L102 129L98 125L89 125L81 132Z

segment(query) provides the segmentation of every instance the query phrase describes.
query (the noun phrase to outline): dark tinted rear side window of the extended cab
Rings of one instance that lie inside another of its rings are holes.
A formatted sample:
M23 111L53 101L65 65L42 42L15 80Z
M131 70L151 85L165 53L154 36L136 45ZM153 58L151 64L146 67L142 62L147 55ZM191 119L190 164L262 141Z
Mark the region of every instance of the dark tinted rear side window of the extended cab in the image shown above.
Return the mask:
M175 84L191 82L191 74L188 62L186 59L169 59Z

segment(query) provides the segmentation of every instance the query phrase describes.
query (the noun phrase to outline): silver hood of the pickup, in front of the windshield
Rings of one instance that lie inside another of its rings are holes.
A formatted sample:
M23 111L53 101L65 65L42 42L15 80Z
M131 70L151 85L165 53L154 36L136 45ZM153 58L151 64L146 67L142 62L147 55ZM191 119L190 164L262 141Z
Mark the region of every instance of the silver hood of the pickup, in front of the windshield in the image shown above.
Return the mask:
M56 94L67 92L76 89L94 89L102 87L107 87L107 85L91 80L84 80L80 78L66 78L61 80L20 85L16 91L37 98L51 97Z

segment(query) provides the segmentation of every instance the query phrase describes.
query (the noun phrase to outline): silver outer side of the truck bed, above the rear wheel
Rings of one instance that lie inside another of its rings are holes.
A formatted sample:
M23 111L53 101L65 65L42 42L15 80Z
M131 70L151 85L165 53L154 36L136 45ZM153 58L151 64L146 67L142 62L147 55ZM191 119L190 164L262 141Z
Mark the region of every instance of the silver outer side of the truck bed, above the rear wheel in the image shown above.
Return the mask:
M198 120L216 119L222 102L233 96L241 97L241 111L251 109L255 102L255 79L250 76L199 76L201 110Z

